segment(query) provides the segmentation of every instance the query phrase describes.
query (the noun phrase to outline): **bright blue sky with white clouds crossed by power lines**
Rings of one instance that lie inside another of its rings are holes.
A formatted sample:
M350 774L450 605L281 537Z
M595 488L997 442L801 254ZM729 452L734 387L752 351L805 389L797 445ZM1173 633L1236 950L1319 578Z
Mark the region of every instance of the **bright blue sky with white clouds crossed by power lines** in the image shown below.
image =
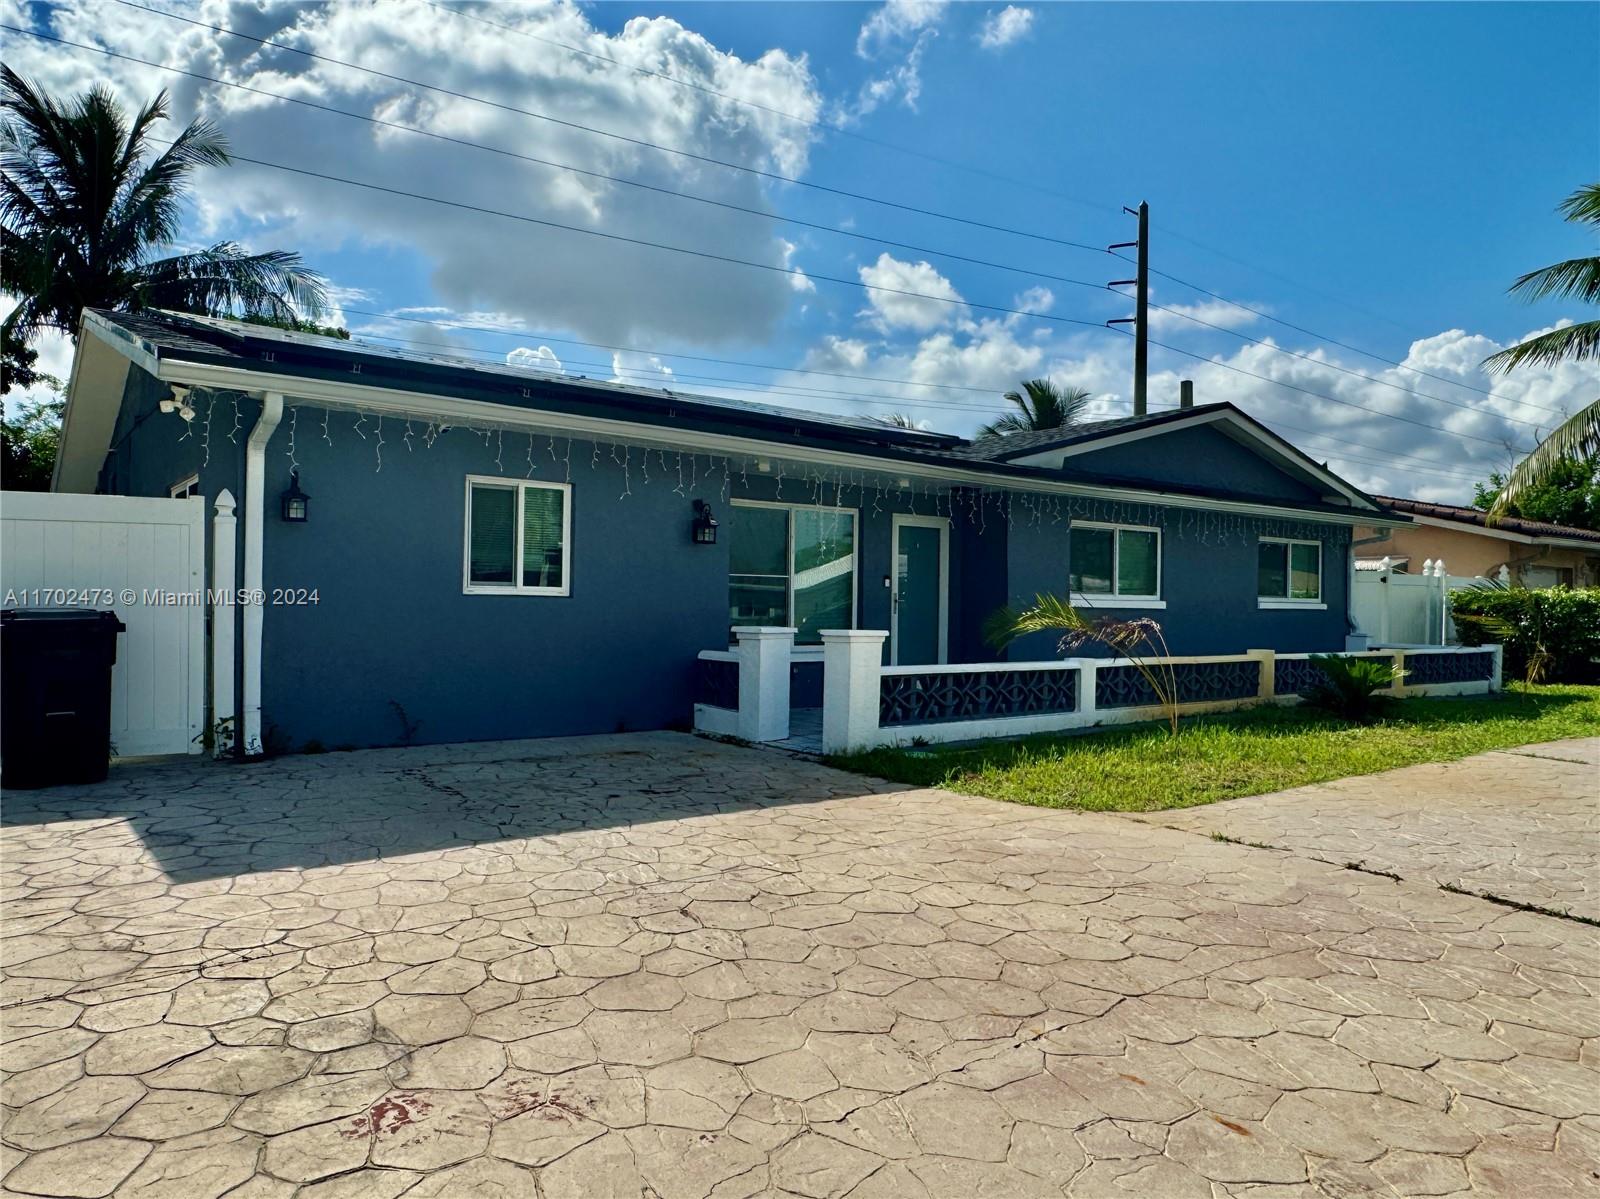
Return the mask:
M1146 198L1158 271L1309 330L1157 279L1157 303L1306 357L1163 317L1157 339L1221 365L1157 351L1152 403L1174 402L1178 378L1194 376L1202 400L1240 403L1374 490L1464 499L1472 477L1504 466L1600 386L1595 371L1576 367L1507 381L1477 370L1485 354L1533 330L1584 317L1573 306L1525 306L1506 285L1594 253L1554 208L1600 165L1595 5L150 3L494 104L1091 247L1130 239L1133 221L1118 207ZM208 173L186 237L301 248L341 288L341 317L358 336L512 354L546 368L554 357L571 373L824 411L907 411L958 432L992 418L998 392L1034 375L1090 389L1102 415L1128 410L1128 341L1093 327L1130 306L1059 282L1128 271L1104 253L725 171L109 2L0 0L0 11L8 24L765 216L6 38L8 61L58 90L106 78L131 102L171 86L179 118L218 120L248 157L818 277L621 247L269 168ZM1088 325L1066 323L1074 319ZM613 357L578 343L830 373Z

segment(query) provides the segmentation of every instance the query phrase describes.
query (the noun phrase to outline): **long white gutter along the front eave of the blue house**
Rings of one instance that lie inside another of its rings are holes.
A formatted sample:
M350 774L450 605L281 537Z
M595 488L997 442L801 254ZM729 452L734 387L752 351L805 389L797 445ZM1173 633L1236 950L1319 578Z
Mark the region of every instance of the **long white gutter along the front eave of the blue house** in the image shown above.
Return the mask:
M1410 519L1394 520L1384 517L1376 509L1371 512L1323 514L1307 512L1301 507L1253 504L1242 499L1211 499L1205 496L1189 496L1166 491L1142 491L1128 487L1093 487L1067 482L1058 483L1050 479L1013 479L973 467L936 466L933 463L917 461L915 458L877 458L874 455L848 453L840 450L816 450L810 447L762 440L757 437L731 437L726 434L675 431L670 427L640 424L635 421L613 421L538 408L515 408L506 403L486 403L483 400L462 400L445 395L424 395L421 392L397 391L392 387L370 387L358 383L302 379L293 375L240 370L237 367L210 367L195 362L163 362L160 378L166 383L184 383L190 387L216 387L221 391L259 391L262 387L270 387L278 392L280 399L283 394L290 394L296 400L304 400L307 403L357 413L365 411L368 415L384 413L400 418L410 416L414 419L432 418L440 419L445 424L470 424L477 421L502 429L515 427L539 432L554 431L560 437L587 439L598 435L602 440L614 439L648 442L667 450L694 443L701 448L714 450L723 455L784 458L802 463L814 463L819 466L842 466L859 471L872 471L886 475L914 474L922 479L970 487L998 487L1013 491L1070 495L1090 499L1163 504L1168 507L1195 507L1211 512L1278 515L1291 520L1314 520L1317 523L1328 525L1387 525L1395 528L1411 525ZM685 397L685 403L691 400L693 397Z

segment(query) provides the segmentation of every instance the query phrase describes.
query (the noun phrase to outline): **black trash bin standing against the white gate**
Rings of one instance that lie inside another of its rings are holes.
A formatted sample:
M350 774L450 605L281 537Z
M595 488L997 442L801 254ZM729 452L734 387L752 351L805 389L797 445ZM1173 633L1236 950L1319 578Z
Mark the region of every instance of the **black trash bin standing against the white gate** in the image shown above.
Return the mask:
M0 786L99 783L110 767L115 612L0 612Z

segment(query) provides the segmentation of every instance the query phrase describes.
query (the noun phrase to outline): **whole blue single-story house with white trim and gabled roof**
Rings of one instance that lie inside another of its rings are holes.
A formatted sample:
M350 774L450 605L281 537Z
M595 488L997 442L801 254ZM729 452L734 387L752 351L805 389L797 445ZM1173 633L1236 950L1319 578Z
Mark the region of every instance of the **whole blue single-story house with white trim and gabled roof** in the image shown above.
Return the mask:
M83 317L56 490L238 501L213 578L267 604L213 621L246 744L682 727L733 626L989 661L984 620L1037 592L1152 616L1178 655L1339 650L1352 528L1405 522L1226 403L971 442L110 312Z

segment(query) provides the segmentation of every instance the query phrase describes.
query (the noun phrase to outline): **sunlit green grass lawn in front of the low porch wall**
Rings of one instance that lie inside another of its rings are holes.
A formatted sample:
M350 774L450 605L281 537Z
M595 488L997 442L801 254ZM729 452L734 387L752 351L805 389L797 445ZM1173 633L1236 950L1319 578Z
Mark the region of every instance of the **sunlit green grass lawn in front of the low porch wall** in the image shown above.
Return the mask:
M1403 700L1379 724L1306 708L1254 708L1166 725L829 759L896 783L1085 812L1150 812L1448 762L1530 741L1600 735L1600 687L1518 687L1461 700Z

